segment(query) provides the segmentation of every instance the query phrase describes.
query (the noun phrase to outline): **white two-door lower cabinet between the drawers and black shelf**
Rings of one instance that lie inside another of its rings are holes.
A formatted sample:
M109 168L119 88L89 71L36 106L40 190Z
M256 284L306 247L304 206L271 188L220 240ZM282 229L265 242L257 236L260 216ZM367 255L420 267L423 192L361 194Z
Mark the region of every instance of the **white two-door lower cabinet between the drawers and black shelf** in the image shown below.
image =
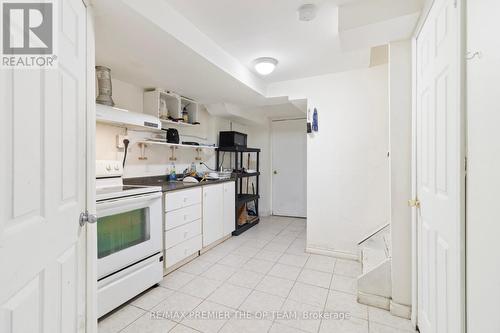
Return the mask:
M235 229L235 183L226 182L203 187L203 246L230 235Z

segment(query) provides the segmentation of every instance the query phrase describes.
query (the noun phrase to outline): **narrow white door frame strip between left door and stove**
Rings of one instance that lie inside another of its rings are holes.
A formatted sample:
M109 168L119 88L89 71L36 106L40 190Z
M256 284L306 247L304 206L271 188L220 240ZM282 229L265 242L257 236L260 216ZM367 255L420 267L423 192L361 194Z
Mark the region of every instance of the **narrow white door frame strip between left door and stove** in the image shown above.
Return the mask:
M96 214L95 204L95 31L94 11L87 0L82 0L87 8L87 210ZM86 225L86 333L97 333L97 226Z

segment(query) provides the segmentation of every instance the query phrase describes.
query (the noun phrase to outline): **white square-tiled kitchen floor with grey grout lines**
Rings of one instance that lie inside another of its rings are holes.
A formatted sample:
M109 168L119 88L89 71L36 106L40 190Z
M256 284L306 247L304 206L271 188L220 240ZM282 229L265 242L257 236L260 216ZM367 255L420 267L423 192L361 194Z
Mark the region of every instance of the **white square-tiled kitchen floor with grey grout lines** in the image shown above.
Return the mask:
M356 302L358 263L305 253L305 220L261 223L166 276L99 321L99 333L408 333L408 320ZM157 311L348 312L335 319L153 319Z

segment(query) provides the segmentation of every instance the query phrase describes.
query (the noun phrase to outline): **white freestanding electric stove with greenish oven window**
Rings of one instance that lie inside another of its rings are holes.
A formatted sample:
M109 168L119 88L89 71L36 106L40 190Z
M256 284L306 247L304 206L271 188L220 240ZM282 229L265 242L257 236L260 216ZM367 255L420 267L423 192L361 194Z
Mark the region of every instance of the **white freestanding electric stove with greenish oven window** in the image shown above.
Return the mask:
M98 316L163 278L160 186L124 186L120 161L96 162Z

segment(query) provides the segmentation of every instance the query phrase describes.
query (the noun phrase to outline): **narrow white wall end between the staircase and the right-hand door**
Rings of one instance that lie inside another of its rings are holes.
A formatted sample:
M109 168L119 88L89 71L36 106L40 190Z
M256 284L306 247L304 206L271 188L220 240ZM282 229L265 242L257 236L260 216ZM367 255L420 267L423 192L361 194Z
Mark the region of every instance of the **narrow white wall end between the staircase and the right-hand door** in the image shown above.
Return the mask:
M411 42L389 44L392 301L411 304ZM409 315L409 312L407 313Z

